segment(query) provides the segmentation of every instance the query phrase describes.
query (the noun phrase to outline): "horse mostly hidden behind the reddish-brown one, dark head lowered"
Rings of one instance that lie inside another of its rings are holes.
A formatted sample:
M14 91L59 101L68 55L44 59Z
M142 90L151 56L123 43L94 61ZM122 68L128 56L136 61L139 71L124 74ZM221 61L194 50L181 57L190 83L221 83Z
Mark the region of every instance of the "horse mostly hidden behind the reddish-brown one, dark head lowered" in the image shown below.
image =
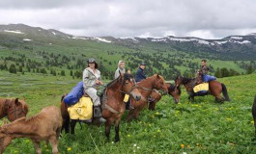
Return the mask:
M180 102L181 97L181 87L176 87L172 84L167 84L168 94L173 97L174 102L177 104ZM152 90L150 96L153 98L153 102L149 102L149 110L155 111L156 103L161 99L162 94L158 90Z

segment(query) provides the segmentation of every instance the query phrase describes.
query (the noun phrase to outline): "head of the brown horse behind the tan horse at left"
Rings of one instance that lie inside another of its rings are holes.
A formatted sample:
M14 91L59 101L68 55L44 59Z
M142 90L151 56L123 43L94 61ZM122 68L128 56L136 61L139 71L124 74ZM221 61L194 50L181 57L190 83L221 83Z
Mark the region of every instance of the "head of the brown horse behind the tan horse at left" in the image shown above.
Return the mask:
M6 101L5 106L7 118L10 121L14 121L19 117L26 116L28 113L28 105L25 103L25 100L23 99L11 99L9 101Z

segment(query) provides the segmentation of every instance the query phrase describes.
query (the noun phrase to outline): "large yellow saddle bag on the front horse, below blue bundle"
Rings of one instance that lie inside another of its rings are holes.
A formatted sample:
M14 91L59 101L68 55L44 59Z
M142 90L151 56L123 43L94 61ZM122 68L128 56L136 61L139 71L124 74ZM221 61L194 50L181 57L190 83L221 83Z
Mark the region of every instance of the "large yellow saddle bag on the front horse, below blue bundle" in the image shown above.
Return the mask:
M68 108L71 119L88 120L93 116L93 102L90 97L82 96L79 101Z

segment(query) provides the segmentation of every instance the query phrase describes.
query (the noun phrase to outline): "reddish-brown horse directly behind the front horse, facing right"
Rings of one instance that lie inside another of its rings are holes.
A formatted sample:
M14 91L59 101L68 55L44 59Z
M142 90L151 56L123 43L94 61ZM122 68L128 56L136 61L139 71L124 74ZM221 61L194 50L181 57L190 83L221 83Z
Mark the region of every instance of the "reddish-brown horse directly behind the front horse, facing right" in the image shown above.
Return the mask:
M137 87L143 96L139 101L130 99L130 110L128 112L128 121L132 118L138 118L139 112L148 105L148 97L154 89L163 90L164 93L168 92L164 78L158 74L148 77L141 82L137 83Z

